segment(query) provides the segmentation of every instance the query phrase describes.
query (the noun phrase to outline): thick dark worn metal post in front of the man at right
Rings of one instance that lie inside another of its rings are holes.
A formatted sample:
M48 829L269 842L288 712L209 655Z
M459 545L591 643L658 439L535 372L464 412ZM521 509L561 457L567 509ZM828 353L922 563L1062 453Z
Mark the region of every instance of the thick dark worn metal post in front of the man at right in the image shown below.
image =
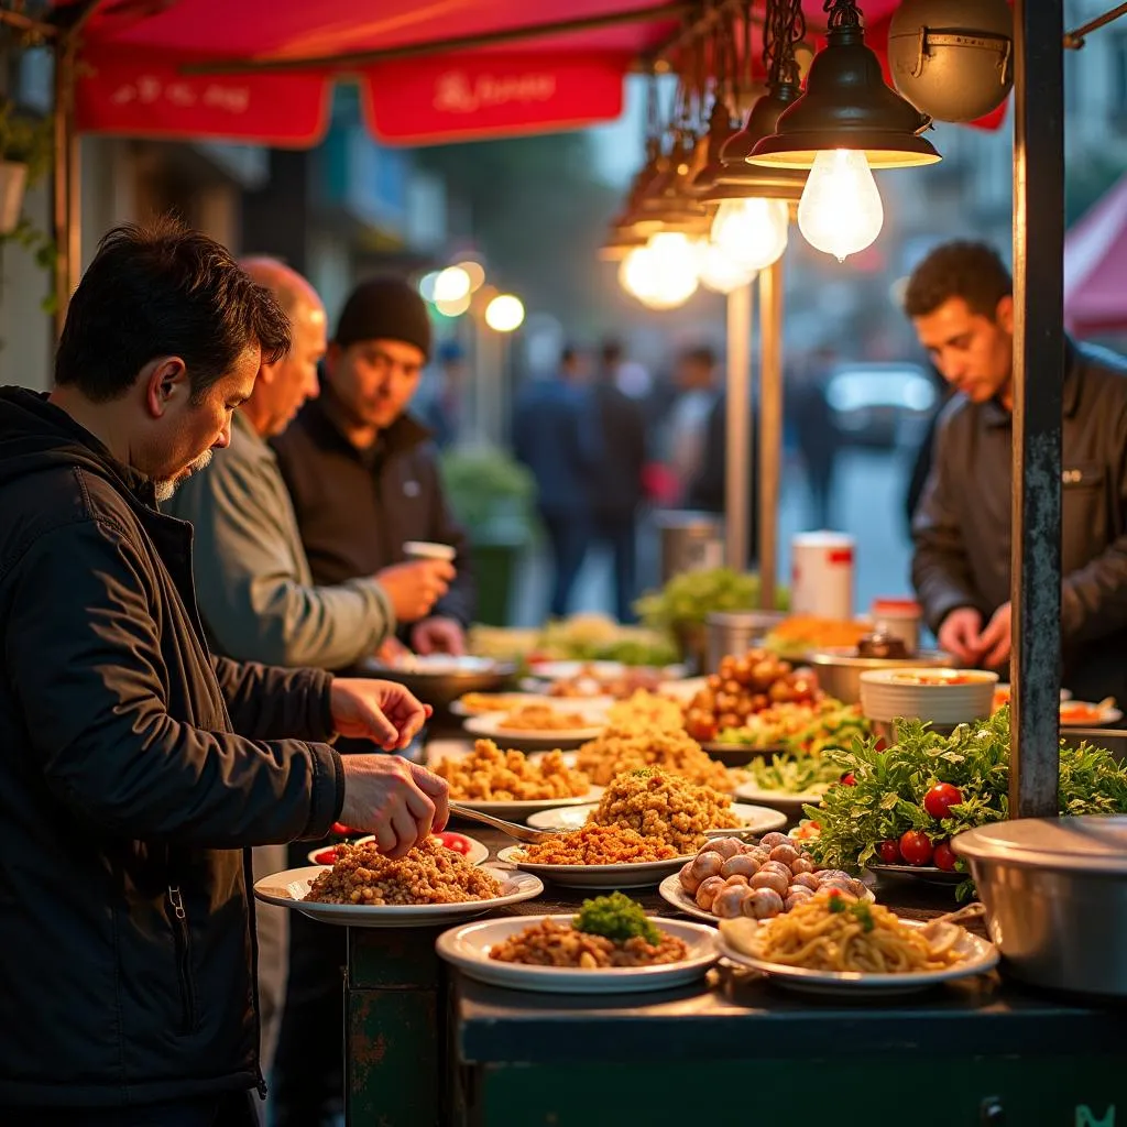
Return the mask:
M1010 814L1057 814L1064 0L1014 0ZM1035 230L1036 228L1036 230Z

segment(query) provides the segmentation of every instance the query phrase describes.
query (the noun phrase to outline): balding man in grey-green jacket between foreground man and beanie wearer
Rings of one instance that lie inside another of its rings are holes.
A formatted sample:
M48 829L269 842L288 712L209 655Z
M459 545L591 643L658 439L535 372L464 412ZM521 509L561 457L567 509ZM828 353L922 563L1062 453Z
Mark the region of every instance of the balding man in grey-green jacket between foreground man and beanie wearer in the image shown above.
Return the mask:
M325 309L312 286L281 263L242 268L269 290L290 318L292 345L263 364L250 398L236 411L231 444L206 471L184 482L166 508L190 521L196 597L213 648L238 660L340 669L393 637L398 619L424 616L446 591L453 567L419 561L334 586L313 584L293 505L266 440L279 434L318 390ZM255 875L286 867L284 845L254 851ZM287 916L258 912L263 1071L277 1044L285 997Z

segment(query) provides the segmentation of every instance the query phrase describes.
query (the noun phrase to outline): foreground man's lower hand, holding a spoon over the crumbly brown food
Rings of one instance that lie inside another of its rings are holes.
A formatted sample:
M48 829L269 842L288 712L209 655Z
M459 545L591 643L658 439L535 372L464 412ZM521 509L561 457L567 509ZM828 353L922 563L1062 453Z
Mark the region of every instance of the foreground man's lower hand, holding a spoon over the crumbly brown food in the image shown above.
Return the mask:
M446 825L446 781L398 755L346 755L340 820L375 835L392 859Z

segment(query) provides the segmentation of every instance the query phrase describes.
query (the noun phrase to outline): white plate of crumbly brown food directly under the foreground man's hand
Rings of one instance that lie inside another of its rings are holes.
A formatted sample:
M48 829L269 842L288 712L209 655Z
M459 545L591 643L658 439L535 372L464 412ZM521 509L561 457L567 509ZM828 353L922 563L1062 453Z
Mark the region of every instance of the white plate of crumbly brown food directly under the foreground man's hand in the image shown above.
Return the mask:
M418 928L485 915L544 890L531 872L474 866L428 837L398 861L375 842L341 844L331 866L287 869L255 881L255 896L348 928Z

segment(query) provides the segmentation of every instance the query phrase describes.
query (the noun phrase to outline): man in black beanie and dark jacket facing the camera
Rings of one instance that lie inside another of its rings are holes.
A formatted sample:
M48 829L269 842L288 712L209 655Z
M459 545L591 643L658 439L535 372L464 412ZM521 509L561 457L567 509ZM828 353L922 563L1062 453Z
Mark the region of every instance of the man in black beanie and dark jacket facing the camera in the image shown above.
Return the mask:
M320 396L274 447L314 583L383 571L405 560L410 541L455 550L450 588L425 618L400 621L398 632L418 653L461 654L474 612L468 541L446 505L431 432L407 414L429 355L431 322L418 293L398 278L362 283L326 353ZM344 939L337 928L291 920L274 1068L276 1127L309 1127L343 1110Z

